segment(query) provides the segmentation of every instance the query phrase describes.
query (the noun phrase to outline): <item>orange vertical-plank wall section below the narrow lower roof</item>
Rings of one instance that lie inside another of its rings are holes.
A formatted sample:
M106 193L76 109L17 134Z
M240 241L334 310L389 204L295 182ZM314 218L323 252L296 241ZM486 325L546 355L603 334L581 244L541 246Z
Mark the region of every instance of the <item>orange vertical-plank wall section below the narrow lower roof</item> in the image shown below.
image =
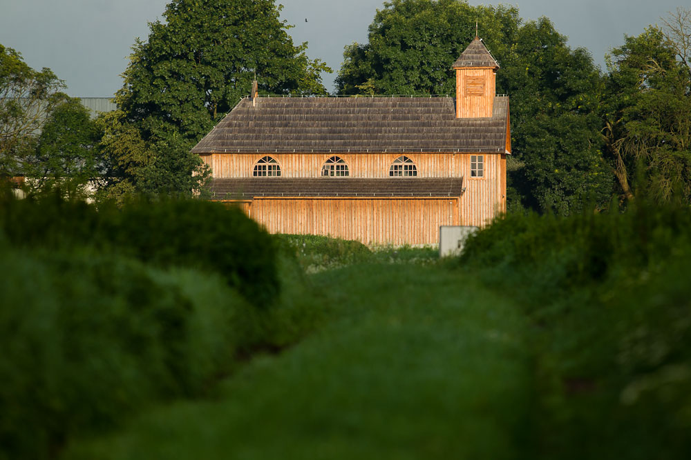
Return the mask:
M271 233L319 234L370 246L436 244L459 225L458 198L255 198L249 217Z

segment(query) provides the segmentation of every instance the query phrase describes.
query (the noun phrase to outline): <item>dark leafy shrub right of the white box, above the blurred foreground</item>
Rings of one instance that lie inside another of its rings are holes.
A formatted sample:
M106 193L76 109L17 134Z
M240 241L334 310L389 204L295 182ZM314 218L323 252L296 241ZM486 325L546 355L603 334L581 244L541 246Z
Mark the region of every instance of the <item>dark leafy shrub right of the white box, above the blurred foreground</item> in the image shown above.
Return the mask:
M571 217L509 214L471 236L460 257L469 270L521 284L524 300L550 301L556 291L637 279L668 258L691 252L687 208L639 203L625 213Z

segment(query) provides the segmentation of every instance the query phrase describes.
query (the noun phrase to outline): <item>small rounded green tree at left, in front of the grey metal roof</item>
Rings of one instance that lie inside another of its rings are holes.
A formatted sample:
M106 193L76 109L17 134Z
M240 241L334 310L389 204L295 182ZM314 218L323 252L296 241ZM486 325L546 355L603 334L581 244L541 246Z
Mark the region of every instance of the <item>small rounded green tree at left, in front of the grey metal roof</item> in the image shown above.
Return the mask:
M34 194L59 188L66 197L88 197L97 182L99 133L79 99L65 97L41 126L37 146L24 158L28 188Z

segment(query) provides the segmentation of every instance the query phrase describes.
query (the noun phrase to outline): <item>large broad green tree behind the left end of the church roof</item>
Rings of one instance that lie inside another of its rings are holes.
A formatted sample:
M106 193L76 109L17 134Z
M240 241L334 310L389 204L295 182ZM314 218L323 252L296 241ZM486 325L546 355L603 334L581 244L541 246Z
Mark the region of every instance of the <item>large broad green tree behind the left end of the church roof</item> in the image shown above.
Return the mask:
M294 46L280 9L273 0L174 0L164 23L149 24L115 97L122 116L111 121L119 125L109 129L140 132L147 158L129 163L142 167L128 179L135 188L198 188L205 169L189 150L249 93L255 75L262 92L326 94L321 72L330 69L307 58L306 43Z

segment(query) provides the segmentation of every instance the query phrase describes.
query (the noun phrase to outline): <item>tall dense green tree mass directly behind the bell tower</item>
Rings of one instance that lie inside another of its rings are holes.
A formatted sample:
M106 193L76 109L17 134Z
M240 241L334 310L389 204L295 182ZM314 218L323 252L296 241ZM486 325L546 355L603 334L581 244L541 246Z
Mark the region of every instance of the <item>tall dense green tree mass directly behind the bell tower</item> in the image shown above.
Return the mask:
M509 208L561 214L606 203L612 181L600 152L600 75L547 18L523 23L507 6L465 0L392 0L377 10L368 43L345 48L341 94L455 94L451 66L475 37L498 58L497 88L511 96Z

